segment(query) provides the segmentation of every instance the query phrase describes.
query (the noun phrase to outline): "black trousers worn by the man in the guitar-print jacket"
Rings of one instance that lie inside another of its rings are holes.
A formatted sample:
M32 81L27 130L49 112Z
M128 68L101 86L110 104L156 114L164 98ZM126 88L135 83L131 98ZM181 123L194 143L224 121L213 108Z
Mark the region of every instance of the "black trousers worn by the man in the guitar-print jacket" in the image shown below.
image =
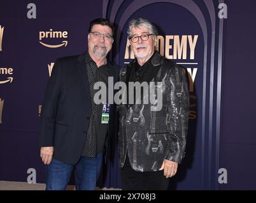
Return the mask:
M120 172L122 190L167 190L169 186L169 178L164 176L164 171L134 171L128 155Z

